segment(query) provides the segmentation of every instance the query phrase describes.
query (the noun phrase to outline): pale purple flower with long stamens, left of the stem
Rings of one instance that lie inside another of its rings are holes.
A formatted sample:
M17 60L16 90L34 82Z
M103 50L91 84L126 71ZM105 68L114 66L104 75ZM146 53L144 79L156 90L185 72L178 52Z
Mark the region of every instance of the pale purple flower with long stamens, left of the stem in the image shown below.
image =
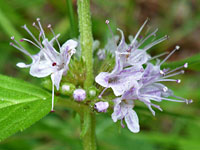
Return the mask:
M11 43L12 46L28 55L32 59L32 63L27 65L23 62L17 64L20 68L28 68L30 67L30 74L34 77L43 78L51 75L52 80L52 111L54 107L54 86L59 90L60 81L63 75L66 75L68 70L68 64L70 62L71 56L76 52L75 48L77 46L77 42L74 40L66 41L62 46L58 42L58 35L55 35L51 25L48 25L48 28L53 33L54 37L52 40L48 40L45 36L44 30L40 23L40 19L37 19L38 25L33 23L33 26L39 30L39 39L30 32L26 25L24 28L29 35L33 38L34 41L23 38L20 40L21 42L27 41L37 48L40 49L39 53L36 55L31 55L27 50L25 50L15 39L11 37L12 40L16 43ZM53 47L53 42L56 41L59 47L59 52L55 50Z

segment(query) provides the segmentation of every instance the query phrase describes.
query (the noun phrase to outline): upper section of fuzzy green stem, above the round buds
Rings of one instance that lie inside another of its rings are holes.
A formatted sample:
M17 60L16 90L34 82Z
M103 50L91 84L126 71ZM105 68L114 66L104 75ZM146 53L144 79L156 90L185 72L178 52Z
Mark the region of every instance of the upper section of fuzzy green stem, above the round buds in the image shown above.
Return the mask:
M92 56L92 23L90 14L90 0L78 0L78 19L82 57L86 65L86 80L84 87L87 89L93 84L93 56Z

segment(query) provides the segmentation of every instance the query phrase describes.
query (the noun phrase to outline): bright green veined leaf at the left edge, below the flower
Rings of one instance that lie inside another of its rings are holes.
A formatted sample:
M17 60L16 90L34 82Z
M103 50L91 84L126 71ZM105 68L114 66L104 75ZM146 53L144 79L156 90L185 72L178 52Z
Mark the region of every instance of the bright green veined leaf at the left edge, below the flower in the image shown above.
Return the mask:
M51 110L51 94L37 86L0 75L0 140L30 127Z

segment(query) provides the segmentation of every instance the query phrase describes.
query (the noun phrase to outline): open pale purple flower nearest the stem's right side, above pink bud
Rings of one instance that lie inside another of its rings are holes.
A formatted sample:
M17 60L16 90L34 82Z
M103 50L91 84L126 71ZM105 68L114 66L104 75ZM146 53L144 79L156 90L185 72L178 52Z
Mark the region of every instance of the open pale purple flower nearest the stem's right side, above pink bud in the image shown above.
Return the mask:
M112 88L114 94L120 96L142 77L142 72L143 67L139 65L123 69L123 63L116 53L113 71L111 73L101 72L96 76L95 81L105 87L103 92L107 88ZM100 94L100 97L103 92Z

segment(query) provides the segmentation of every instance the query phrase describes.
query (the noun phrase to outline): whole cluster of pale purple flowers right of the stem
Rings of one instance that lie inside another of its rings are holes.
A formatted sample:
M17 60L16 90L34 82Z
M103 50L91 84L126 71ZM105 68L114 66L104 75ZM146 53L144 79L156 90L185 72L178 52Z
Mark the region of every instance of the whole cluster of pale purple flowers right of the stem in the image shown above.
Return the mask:
M118 45L115 42L115 67L112 72L101 72L95 78L98 84L105 87L99 98L101 98L104 91L108 88L111 88L115 96L118 96L113 100L113 121L117 122L117 120L121 120L121 125L124 127L123 121L125 120L128 129L134 133L140 130L138 116L133 110L135 100L139 100L147 105L153 115L155 115L155 112L152 107L160 111L162 109L160 106L153 104L152 101L161 102L167 100L185 102L187 104L192 102L192 100L175 96L172 90L163 84L165 81L181 82L179 79L171 79L170 77L184 73L181 69L187 68L187 63L173 70L161 69L161 65L180 47L176 46L162 61L157 58L163 54L151 57L147 54L147 51L154 45L166 40L168 36L164 36L141 48L143 43L150 37L156 36L156 32L158 31L156 29L139 41L138 36L147 21L141 26L130 44L125 42L122 30L117 29L121 33L121 40ZM106 21L106 23L109 24L109 21ZM156 64L150 62L152 59L157 60Z

